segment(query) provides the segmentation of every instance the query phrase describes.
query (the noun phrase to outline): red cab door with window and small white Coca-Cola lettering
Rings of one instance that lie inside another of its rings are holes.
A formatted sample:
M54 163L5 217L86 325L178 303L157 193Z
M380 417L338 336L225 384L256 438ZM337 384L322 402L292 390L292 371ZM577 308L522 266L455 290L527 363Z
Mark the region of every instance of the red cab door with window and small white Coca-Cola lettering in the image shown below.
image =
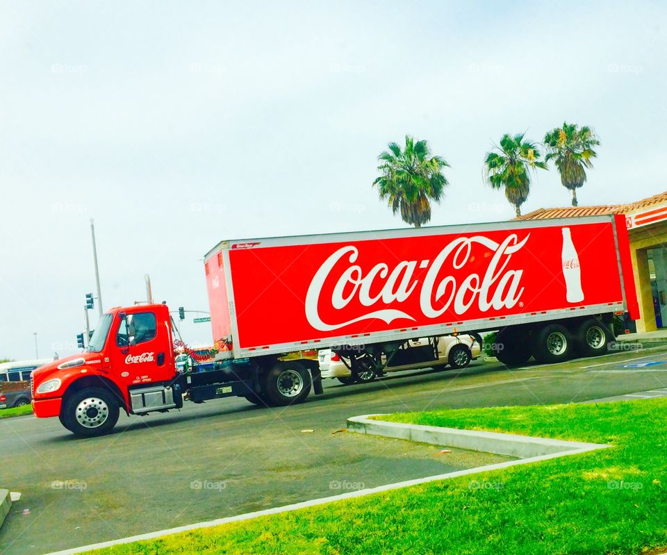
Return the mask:
M128 386L174 377L169 329L151 310L122 317L111 347L113 369Z

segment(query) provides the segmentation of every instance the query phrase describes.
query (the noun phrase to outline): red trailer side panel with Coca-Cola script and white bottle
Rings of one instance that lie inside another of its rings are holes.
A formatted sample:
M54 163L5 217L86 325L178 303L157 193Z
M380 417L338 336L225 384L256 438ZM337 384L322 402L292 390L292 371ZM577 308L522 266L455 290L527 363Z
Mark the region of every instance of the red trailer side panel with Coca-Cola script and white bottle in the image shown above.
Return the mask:
M240 348L622 301L609 222L238 249L229 260Z

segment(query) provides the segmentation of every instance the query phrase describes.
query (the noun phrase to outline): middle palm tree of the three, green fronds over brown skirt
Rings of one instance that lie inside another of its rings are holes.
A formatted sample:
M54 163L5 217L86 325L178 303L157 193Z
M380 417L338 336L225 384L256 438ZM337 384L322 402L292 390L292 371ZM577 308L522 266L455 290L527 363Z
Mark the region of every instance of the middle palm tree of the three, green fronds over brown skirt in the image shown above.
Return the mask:
M524 140L524 135L505 133L500 139L500 147L495 147L495 152L486 153L484 160L484 179L494 189L504 188L505 197L516 208L517 216L521 215L521 205L530 192L530 170L547 168L539 160L541 155L536 144Z

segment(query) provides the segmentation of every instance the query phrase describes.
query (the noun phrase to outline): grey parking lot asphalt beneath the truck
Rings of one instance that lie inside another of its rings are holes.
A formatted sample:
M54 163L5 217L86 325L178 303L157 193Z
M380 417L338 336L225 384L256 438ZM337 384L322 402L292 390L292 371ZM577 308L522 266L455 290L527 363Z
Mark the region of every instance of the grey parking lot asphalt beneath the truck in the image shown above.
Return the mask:
M115 433L85 440L58 419L1 420L0 481L22 497L0 529L0 553L42 554L500 460L340 431L353 415L659 390L667 390L666 347L518 370L476 361L462 372L355 386L327 380L324 395L298 406L188 404L122 416Z

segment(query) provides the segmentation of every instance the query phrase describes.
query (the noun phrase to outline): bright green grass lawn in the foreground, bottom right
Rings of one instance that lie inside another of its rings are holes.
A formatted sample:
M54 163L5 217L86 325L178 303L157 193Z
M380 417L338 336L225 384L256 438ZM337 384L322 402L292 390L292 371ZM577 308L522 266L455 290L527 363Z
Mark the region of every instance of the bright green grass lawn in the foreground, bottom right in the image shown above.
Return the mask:
M391 415L615 447L101 552L639 554L667 545L666 414L653 399Z

